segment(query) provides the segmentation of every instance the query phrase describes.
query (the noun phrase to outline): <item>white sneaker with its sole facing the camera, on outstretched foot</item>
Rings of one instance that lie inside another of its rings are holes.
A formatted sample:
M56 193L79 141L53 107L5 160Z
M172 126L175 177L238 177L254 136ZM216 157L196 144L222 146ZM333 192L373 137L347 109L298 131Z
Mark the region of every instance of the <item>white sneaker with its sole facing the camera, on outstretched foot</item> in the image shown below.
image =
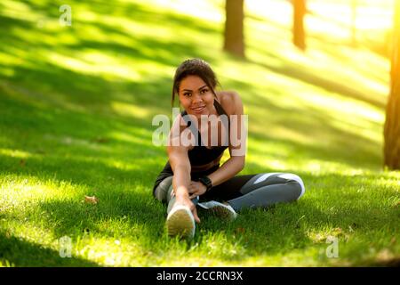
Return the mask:
M168 235L181 236L192 239L195 236L196 223L190 208L183 205L176 205L172 208L166 219Z

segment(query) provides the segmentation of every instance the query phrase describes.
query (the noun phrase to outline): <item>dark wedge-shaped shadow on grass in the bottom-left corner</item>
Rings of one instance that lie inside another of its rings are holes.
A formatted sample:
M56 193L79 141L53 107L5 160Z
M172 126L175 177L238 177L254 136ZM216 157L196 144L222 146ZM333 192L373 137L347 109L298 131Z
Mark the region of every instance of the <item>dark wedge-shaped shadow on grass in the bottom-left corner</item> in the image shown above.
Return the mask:
M17 267L97 267L98 264L80 257L61 257L60 251L0 232L0 261ZM21 255L20 253L23 252Z

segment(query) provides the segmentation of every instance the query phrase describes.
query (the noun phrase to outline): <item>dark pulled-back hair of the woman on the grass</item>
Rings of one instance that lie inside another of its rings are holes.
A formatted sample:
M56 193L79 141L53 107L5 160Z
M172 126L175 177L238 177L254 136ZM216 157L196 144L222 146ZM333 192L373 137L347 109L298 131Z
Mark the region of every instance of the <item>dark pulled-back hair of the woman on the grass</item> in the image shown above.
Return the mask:
M202 78L204 83L212 90L214 96L217 96L214 89L217 85L220 85L220 83L210 65L201 59L186 60L180 63L180 66L176 69L175 76L173 77L172 106L175 101L175 94L180 91L180 81L189 75L195 75Z

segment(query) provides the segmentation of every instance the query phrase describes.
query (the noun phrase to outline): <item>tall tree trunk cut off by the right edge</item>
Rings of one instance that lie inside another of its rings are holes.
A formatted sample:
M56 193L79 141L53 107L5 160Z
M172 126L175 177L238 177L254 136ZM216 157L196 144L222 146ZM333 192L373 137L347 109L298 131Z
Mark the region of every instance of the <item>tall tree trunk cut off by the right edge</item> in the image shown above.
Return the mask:
M395 1L390 94L384 127L384 166L400 169L400 0Z

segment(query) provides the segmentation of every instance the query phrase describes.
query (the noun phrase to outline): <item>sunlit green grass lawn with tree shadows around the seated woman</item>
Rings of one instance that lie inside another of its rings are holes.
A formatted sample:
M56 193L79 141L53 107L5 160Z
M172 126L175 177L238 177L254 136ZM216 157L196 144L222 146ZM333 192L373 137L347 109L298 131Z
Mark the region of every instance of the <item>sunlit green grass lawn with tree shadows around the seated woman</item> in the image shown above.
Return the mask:
M398 265L400 174L381 170L388 59L312 27L300 53L290 18L248 11L242 61L220 51L222 1L207 3L190 14L156 0L69 1L61 27L64 3L1 2L0 265ZM231 224L203 216L182 242L166 237L151 195L166 161L151 120L172 116L173 71L188 57L243 98L242 174L292 172L307 191ZM325 254L329 236L338 258Z

